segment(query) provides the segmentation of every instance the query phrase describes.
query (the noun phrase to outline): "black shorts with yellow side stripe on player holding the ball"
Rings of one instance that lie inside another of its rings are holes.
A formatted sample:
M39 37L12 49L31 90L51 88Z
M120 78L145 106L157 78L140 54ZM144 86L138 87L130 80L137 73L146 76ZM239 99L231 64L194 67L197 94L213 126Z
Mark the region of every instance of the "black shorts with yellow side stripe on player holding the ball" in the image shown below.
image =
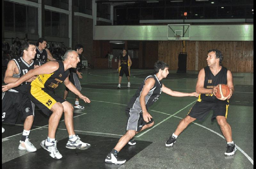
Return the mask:
M188 112L188 115L196 118L197 120L203 121L207 114L213 110L212 120L214 120L216 116L225 116L227 118L229 106L228 102L228 100L219 102L197 101Z

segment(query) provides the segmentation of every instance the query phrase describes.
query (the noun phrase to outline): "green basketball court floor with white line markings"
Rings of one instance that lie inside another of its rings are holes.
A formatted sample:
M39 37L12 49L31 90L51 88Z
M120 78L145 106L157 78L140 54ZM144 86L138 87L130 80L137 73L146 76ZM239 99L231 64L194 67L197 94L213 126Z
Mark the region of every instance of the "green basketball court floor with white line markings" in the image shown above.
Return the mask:
M137 144L126 145L119 157L127 159L124 165L105 164L104 160L119 138L124 135L128 116L124 112L140 83L153 70L131 70L131 87L127 78L122 78L117 90L116 69L82 70L82 93L91 103L80 104L84 110L74 110L74 128L82 141L92 146L87 150L65 148L68 133L63 117L58 126L57 148L60 160L53 159L43 150L40 142L47 137L48 117L36 109L35 120L29 138L36 152L18 150L23 131L23 122L16 125L2 124L2 168L253 168L253 73L233 73L235 93L230 99L227 120L232 128L232 137L237 151L226 157L227 143L217 121L211 122L212 112L203 122L191 123L177 138L172 147L165 142L196 102L196 97L172 97L162 93L149 108L155 125L135 136ZM170 71L163 79L165 86L174 91L194 92L197 71L176 74ZM56 93L63 96L64 85ZM75 95L69 93L68 101L75 103Z

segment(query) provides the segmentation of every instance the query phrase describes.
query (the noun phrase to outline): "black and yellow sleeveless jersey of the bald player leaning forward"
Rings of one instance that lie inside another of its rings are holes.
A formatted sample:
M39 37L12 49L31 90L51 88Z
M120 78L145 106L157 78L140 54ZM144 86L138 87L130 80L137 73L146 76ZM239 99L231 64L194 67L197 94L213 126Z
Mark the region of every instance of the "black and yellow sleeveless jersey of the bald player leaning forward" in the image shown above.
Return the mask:
M56 89L69 75L69 69L64 70L63 61L52 61L59 63L59 69L50 74L38 75L36 79L31 82L31 86L44 88L44 90L52 91Z

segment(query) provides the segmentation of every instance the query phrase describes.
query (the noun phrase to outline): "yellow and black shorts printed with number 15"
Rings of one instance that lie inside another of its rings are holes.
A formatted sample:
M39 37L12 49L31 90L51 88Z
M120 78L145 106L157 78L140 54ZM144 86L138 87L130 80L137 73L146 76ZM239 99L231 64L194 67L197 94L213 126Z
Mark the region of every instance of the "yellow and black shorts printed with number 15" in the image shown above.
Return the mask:
M53 91L47 91L39 86L30 86L30 93L28 98L35 103L35 105L43 111L44 114L50 116L52 106L57 103L63 103L64 100L60 96L56 95Z

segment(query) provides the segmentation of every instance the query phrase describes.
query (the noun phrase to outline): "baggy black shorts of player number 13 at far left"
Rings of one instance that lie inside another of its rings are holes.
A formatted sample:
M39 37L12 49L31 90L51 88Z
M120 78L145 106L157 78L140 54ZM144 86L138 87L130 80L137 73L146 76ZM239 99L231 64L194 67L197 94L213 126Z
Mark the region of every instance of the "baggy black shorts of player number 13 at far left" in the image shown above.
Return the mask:
M2 121L15 124L20 113L21 120L35 115L35 104L27 94L20 92L2 92Z

